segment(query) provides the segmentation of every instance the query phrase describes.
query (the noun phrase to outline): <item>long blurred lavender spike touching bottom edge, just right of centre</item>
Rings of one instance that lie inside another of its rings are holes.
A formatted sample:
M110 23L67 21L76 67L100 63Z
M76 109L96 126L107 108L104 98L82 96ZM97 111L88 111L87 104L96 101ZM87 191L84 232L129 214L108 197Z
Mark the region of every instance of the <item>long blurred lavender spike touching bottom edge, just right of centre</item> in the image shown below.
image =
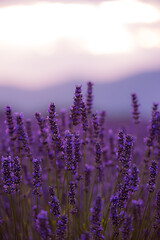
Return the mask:
M102 211L102 198L97 196L94 202L94 206L91 209L91 233L94 240L104 239L102 234L103 228L101 225L101 211Z

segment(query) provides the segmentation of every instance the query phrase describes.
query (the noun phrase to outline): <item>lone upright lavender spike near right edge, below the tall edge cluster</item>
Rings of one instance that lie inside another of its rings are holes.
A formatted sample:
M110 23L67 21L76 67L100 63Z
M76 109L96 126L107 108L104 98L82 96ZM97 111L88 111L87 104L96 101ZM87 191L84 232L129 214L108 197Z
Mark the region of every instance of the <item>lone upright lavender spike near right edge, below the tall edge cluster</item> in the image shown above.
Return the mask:
M147 184L147 189L149 192L154 192L155 190L155 184L156 184L156 176L157 176L157 163L156 161L152 161L150 166L150 179L149 183Z

